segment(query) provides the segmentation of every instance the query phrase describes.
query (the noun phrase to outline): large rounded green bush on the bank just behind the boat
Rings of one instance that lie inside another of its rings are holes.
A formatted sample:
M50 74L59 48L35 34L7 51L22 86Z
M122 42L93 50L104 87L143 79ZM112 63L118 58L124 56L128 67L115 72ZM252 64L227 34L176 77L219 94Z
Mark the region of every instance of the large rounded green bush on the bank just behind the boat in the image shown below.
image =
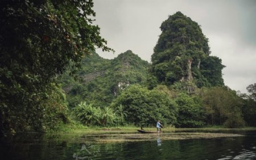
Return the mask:
M176 122L177 106L159 90L148 90L140 85L132 85L121 93L112 103L117 109L123 106L127 113L126 122L137 126L152 126L160 120L164 124Z

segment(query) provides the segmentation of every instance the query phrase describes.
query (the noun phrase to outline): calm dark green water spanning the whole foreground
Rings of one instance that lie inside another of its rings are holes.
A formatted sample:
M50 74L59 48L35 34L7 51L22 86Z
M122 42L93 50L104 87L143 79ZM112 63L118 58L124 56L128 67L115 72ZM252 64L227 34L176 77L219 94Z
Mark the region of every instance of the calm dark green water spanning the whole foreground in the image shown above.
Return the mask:
M237 132L236 132L237 133ZM20 135L1 142L0 159L256 159L256 132L243 137L96 144L85 136Z

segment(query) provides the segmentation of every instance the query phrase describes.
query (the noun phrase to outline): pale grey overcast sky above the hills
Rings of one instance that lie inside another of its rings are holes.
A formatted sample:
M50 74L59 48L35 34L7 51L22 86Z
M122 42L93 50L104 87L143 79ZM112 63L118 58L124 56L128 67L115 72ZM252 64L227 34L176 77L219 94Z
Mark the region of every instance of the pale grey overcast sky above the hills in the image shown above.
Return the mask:
M112 52L96 52L113 59L131 50L151 62L161 34L160 25L181 11L196 21L209 38L212 53L222 59L224 83L247 93L256 83L256 0L94 0L94 24Z

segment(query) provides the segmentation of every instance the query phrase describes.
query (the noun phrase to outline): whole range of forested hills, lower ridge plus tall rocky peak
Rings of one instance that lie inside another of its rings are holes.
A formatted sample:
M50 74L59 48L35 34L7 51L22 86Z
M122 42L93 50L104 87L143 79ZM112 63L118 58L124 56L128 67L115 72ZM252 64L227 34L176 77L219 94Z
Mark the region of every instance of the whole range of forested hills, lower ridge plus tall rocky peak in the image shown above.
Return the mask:
M210 56L208 38L199 24L176 12L163 21L160 29L151 65L130 50L112 60L97 53L85 57L79 71L80 81L67 76L63 79L69 106L81 101L108 106L130 84L145 84L149 89L159 84L174 85L188 92L224 86L225 66L220 58Z

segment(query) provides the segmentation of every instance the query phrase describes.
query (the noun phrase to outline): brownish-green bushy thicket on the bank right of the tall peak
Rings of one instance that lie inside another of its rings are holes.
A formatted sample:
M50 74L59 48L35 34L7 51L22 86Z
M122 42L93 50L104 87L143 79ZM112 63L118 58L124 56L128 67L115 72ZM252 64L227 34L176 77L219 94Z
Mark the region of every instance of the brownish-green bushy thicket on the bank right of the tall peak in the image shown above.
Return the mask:
M242 101L236 92L224 87L204 89L203 92L208 123L229 128L245 126L241 113Z

